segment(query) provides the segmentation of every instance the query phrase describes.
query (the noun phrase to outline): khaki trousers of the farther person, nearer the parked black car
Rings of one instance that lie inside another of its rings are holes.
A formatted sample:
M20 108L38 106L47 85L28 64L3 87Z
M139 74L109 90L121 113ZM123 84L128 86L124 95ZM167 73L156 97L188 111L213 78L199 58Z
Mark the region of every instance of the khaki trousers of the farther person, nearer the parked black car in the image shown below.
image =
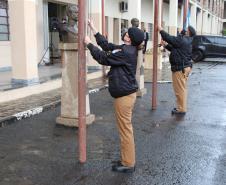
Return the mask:
M177 100L177 110L187 111L187 81L191 68L187 67L182 71L172 73L173 89Z

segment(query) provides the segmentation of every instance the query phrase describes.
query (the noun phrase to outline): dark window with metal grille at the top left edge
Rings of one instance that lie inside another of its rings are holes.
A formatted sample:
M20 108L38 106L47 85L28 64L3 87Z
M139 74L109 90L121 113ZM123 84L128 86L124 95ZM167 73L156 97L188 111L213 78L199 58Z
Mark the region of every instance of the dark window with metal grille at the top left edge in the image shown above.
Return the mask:
M0 41L9 40L8 2L0 0Z

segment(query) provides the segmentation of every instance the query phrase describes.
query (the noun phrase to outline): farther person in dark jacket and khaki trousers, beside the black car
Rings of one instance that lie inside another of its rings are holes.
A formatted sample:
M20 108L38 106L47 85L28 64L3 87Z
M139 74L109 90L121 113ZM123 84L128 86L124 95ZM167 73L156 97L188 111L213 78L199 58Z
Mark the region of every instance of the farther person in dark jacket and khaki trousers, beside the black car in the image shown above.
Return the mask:
M186 35L171 36L159 27L162 36L162 45L169 50L170 64L174 93L177 99L177 107L172 114L185 115L187 111L187 80L192 69L192 40L196 31L192 26L188 27Z

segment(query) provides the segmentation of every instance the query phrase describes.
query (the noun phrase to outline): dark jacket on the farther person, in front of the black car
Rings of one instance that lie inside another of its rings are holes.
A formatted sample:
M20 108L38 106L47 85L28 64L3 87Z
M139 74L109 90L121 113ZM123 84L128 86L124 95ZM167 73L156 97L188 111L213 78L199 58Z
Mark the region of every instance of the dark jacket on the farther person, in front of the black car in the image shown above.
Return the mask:
M160 31L162 39L168 43L165 47L170 53L171 71L183 71L186 67L192 67L192 37L179 34L171 36L165 31Z

